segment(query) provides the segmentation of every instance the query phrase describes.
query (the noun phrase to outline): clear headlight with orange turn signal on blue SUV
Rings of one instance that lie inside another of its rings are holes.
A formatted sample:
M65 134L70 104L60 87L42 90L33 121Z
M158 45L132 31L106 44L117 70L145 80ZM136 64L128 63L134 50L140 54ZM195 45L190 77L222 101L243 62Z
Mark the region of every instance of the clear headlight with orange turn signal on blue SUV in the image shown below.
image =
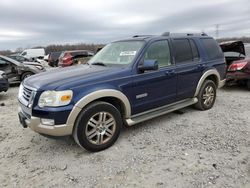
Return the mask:
M38 106L43 108L66 106L71 102L73 91L44 91L38 101Z

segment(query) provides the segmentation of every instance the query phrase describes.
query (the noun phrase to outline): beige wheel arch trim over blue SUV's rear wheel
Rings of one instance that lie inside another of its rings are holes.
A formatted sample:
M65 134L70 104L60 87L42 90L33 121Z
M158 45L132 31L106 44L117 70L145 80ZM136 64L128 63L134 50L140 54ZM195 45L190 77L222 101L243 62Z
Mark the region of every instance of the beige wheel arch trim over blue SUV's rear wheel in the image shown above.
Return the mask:
M201 89L202 84L207 79L214 81L216 87L218 87L219 83L220 83L220 74L219 74L219 72L216 69L209 69L206 72L204 72L203 75L201 76L198 84L197 84L194 97L196 97L198 95L198 93L199 93L199 91Z

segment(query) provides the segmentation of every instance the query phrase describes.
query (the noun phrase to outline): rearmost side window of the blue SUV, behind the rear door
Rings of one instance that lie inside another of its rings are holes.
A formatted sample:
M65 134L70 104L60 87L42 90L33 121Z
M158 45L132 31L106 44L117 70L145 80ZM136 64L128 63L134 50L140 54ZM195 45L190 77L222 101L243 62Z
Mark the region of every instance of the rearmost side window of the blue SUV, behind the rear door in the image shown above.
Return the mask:
M209 60L223 58L223 53L218 45L218 43L212 39L201 39L201 42L205 48Z

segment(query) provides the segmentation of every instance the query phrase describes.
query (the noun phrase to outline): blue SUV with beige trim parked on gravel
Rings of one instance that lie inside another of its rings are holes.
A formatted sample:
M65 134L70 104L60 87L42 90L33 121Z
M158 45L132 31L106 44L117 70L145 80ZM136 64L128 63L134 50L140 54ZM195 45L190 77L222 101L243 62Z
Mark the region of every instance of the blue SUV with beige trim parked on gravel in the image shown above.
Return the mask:
M194 105L212 108L226 64L206 34L134 36L86 65L57 68L20 85L19 119L43 135L73 135L89 151L110 147L123 125Z

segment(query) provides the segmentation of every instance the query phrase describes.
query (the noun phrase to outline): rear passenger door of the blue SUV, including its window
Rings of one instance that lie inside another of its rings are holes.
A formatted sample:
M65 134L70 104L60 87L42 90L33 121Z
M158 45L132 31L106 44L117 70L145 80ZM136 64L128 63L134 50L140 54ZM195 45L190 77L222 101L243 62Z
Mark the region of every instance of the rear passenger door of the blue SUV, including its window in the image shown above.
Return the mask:
M177 73L177 100L193 97L202 74L200 55L193 39L172 39Z

